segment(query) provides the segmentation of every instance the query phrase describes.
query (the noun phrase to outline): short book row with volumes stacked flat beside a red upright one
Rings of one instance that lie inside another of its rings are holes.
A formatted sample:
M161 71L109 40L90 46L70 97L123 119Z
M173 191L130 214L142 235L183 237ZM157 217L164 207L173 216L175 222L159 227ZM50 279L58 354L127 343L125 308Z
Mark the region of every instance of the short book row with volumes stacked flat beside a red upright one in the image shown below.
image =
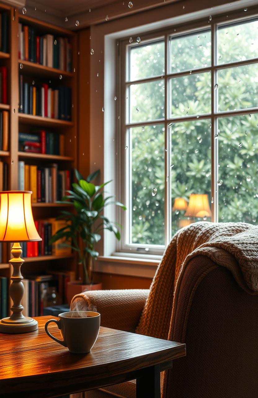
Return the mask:
M46 130L35 133L19 133L19 151L64 156L65 140L63 134Z

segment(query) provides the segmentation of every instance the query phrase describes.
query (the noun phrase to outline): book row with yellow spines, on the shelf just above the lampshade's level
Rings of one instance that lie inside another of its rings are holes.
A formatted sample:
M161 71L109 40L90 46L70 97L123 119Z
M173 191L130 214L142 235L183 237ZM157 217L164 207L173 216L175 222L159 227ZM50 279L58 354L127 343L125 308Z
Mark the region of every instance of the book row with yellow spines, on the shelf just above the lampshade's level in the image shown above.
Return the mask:
M65 191L71 189L72 182L72 170L58 170L56 163L40 167L19 161L18 187L20 191L32 191L31 203L61 200Z

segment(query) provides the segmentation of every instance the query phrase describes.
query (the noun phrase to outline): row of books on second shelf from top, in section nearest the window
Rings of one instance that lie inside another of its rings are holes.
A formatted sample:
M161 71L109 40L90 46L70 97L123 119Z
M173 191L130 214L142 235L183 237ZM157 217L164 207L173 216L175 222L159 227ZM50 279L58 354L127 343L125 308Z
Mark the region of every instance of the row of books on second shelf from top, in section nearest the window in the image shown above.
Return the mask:
M19 112L71 121L71 88L29 85L23 82L23 75L20 75Z

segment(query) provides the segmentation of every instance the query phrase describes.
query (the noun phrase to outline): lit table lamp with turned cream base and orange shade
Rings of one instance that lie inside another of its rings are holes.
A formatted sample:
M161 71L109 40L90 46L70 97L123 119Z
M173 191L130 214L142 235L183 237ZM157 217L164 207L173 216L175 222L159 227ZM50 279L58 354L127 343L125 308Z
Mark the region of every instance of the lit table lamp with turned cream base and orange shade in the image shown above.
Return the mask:
M23 276L20 257L22 250L19 242L35 242L42 240L34 224L31 209L31 191L0 192L0 242L13 242L12 255L9 263L13 266L10 296L13 300L12 315L0 320L0 332L25 333L38 328L38 322L22 314Z

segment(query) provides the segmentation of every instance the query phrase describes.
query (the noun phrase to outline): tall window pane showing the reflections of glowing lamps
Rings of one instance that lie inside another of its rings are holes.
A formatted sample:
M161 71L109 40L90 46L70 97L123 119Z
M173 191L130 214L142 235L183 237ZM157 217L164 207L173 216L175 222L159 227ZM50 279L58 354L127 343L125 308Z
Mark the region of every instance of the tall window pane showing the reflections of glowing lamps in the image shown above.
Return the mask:
M174 123L171 127L172 234L191 222L210 220L210 127L209 119ZM188 206L191 194L208 197L192 197ZM200 199L197 211L193 204ZM189 217L185 216L187 209Z

